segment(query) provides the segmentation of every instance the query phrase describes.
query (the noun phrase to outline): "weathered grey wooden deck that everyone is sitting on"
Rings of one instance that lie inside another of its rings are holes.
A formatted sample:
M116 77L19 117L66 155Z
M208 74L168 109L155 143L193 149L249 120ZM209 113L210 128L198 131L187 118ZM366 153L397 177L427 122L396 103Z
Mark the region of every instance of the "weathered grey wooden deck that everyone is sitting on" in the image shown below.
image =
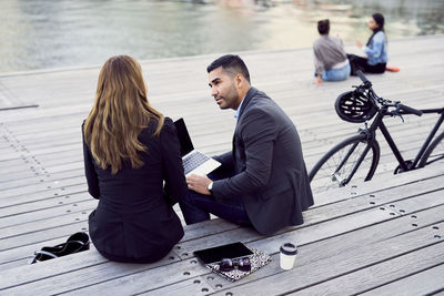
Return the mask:
M443 50L444 35L391 40L391 64L401 72L370 75L376 93L414 108L442 108ZM241 57L253 85L278 101L294 121L309 170L333 144L357 130L359 125L337 118L333 103L359 80L313 85L311 49ZM194 145L210 154L231 149L235 124L234 112L220 111L206 86L205 67L215 58L142 63L151 103L168 116L183 116ZM302 226L264 237L212 220L185 226L185 237L155 264L112 263L92 247L27 265L34 251L88 229L88 214L97 201L85 191L80 125L92 105L98 73L99 67L0 74L0 295L422 295L444 290L444 165L394 176L396 162L382 137L375 178L315 194L315 205L304 213ZM435 121L434 115L423 115L386 123L408 159ZM229 283L192 255L235 241L270 253L272 263ZM295 242L300 253L295 268L283 272L278 252L287 241Z

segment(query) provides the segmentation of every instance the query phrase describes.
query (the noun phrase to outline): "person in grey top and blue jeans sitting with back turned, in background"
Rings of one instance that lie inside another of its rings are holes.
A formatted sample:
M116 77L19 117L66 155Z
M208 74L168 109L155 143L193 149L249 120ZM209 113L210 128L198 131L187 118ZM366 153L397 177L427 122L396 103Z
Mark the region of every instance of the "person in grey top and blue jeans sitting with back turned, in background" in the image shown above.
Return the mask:
M340 81L350 76L350 63L346 58L342 40L329 35L330 20L317 22L321 38L314 41L314 65L316 69L316 84L325 81Z

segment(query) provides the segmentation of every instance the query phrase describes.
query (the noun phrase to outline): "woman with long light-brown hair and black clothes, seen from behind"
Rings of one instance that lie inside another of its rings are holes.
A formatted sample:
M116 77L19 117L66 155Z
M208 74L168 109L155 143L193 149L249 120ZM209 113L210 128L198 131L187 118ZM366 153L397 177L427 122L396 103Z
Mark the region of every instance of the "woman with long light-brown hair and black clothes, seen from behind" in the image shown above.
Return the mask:
M95 102L82 125L92 243L117 262L150 263L183 236L172 208L188 192L171 119L148 102L140 64L110 58L100 70Z

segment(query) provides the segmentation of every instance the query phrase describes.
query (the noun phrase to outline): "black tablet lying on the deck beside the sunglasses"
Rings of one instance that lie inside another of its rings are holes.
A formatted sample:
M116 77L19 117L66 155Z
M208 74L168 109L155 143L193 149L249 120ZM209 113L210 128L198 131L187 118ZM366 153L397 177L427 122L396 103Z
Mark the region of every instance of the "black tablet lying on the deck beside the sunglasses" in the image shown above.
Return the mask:
M194 251L194 255L203 263L214 263L220 262L223 258L239 258L253 255L244 244L238 242L233 244L204 248L200 251Z

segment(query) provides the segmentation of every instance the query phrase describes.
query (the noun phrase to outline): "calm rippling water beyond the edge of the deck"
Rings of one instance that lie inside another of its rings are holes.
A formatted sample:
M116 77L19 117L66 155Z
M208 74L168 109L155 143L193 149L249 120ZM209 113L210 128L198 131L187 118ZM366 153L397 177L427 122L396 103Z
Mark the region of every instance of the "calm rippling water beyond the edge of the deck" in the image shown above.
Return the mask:
M324 18L365 41L377 11L390 39L444 33L442 0L0 0L0 72L311 47Z

